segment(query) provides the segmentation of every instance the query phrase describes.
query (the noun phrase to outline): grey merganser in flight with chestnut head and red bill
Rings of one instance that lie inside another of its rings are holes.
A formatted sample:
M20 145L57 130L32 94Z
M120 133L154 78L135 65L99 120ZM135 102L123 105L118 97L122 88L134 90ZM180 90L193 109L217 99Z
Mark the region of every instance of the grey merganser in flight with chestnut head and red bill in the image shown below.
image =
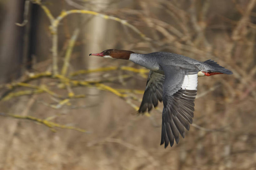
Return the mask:
M161 145L166 148L179 134L184 138L184 127L192 124L197 77L233 74L213 60L204 62L169 52L137 54L133 51L109 49L89 56L102 56L133 61L150 70L139 113L150 111L163 100Z

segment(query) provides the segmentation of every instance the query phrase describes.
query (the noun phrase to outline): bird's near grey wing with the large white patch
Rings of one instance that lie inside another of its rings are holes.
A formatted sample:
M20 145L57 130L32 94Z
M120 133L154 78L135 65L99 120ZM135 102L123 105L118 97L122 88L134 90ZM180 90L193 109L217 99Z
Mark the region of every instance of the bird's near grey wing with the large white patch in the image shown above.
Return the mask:
M184 127L192 124L194 100L197 93L197 74L188 70L165 68L163 83L163 115L161 144L166 148L174 139L179 142L179 134L184 138Z

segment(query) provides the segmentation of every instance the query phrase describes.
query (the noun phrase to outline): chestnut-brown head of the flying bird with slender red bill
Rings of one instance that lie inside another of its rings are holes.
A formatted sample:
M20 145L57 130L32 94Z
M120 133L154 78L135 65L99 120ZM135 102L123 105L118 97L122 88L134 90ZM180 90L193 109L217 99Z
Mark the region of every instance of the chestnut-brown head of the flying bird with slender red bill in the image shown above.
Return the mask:
M91 53L89 56L101 56L105 58L117 58L117 59L124 59L129 60L130 54L134 53L133 51L126 51L126 50L117 50L117 49L108 49L104 50L101 53Z

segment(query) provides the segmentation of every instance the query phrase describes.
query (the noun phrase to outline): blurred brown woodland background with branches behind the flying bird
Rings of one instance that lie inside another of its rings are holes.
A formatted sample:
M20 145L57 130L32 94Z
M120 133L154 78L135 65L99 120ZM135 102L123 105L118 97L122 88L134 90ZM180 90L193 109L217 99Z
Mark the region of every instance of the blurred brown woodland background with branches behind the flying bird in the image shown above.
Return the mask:
M1 170L256 169L256 0L1 0L0 9ZM66 15L73 9L91 12ZM234 74L198 78L193 126L164 149L162 103L136 114L147 71L88 56L112 48L213 59Z

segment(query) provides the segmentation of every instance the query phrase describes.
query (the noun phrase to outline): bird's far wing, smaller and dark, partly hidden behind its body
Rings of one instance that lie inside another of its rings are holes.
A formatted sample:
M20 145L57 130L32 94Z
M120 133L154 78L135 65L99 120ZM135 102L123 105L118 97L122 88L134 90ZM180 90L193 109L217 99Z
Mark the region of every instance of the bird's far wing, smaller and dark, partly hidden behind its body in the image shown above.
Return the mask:
M164 75L150 70L147 80L145 92L143 94L142 102L140 104L139 113L150 111L152 106L158 105L158 100L163 100L163 81Z

